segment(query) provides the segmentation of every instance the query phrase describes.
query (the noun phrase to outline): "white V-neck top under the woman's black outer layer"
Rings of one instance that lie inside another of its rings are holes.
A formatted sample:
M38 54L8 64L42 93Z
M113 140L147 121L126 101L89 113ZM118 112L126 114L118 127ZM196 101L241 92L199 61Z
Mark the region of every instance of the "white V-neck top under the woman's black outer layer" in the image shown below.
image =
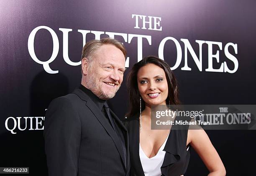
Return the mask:
M162 146L159 148L159 151L156 153L156 156L153 156L152 158L148 158L145 153L143 152L140 144L140 159L141 159L141 165L144 171L145 176L161 176L161 166L164 162L164 156L166 151L163 151L166 141L169 137L169 134L167 138L165 139Z

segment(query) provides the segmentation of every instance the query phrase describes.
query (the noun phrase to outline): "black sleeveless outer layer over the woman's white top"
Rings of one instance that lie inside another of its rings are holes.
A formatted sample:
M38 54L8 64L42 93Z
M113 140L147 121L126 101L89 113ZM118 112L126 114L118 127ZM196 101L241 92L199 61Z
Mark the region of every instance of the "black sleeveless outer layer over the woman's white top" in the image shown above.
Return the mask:
M191 118L182 118L182 120L190 121ZM139 114L128 117L124 120L123 123L129 133L131 157L130 176L144 176L144 171L139 156ZM169 137L166 141L166 145L164 147L164 151L166 151L166 153L164 156L164 162L161 166L162 176L181 176L186 172L190 158L190 149L187 150L186 147L187 131L188 126L177 126L174 129L171 129Z

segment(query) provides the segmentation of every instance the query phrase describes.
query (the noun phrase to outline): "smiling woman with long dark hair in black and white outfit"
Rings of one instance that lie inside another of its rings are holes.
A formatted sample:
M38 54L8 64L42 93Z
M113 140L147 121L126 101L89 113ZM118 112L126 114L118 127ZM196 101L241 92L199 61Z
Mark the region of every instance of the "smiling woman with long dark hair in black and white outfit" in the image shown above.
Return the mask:
M176 79L169 65L154 56L136 63L128 75L131 176L180 176L187 170L192 146L210 171L225 167L204 130L151 130L151 107L179 104ZM199 173L200 174L200 173Z

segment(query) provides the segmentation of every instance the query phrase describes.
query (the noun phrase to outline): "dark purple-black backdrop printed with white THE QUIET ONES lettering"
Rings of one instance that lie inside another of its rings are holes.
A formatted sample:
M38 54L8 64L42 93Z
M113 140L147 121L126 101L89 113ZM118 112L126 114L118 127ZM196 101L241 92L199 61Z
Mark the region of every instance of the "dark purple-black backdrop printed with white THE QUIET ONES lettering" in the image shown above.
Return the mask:
M183 104L256 104L255 12L252 0L1 0L0 167L47 176L45 112L79 86L82 47L92 39L127 48L123 85L109 101L120 119L126 75L147 55L169 63ZM256 131L206 132L228 175L255 174ZM207 173L192 150L187 175Z

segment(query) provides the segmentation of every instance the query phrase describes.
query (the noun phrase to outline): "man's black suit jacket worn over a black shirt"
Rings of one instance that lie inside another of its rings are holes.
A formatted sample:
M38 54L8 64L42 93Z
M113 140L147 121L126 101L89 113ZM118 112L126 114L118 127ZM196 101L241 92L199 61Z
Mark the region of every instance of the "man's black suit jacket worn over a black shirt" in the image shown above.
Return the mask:
M45 151L49 176L128 176L129 138L123 131L127 165L119 138L96 104L80 89L54 99L44 122Z

